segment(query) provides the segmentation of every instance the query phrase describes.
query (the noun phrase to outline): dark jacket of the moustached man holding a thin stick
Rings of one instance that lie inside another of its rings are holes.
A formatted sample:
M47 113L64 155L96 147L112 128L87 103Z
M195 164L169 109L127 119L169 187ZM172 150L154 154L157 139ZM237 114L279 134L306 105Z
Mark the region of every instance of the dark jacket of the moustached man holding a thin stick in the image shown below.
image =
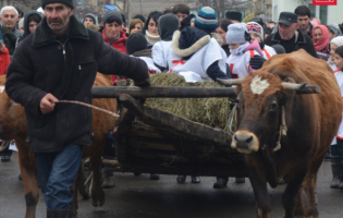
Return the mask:
M5 90L25 108L33 153L59 152L70 143L90 145L91 110L58 104L52 112L42 114L39 105L46 94L91 104L90 89L97 72L121 74L136 82L149 77L144 61L113 49L100 33L86 29L75 16L69 25L63 40L44 17L35 34L16 48L8 69Z

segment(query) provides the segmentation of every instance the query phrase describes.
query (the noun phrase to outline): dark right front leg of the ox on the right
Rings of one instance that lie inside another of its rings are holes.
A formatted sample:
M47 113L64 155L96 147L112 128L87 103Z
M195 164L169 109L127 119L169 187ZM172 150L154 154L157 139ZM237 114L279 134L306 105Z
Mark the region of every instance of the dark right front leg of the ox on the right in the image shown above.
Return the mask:
M285 218L293 218L296 198L299 197L302 183L306 177L307 169L297 169L290 174L289 183L282 195L282 206L284 208Z

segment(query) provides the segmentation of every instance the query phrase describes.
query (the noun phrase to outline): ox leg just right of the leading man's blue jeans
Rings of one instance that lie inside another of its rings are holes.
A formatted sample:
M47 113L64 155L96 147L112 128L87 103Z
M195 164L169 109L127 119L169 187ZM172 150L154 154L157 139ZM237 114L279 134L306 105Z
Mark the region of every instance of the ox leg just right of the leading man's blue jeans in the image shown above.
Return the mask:
M105 204L105 192L101 186L101 156L90 157L90 165L93 170L93 185L91 185L91 204L95 207L102 206Z

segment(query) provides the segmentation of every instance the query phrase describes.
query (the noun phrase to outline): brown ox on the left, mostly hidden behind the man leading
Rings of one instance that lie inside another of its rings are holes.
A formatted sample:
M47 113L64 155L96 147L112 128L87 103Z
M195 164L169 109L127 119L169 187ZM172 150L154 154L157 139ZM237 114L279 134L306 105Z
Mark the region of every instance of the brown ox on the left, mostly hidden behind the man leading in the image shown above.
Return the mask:
M5 76L0 76L0 87L3 87ZM98 73L94 86L111 86L109 76ZM110 111L117 111L115 99L94 99L93 105ZM84 147L83 158L90 157L90 165L94 171L91 199L94 206L102 206L105 193L100 184L101 156L108 133L114 126L114 118L93 110L93 133L94 141L90 147ZM25 186L26 218L34 218L38 203L38 178L36 158L29 152L26 143L27 126L24 108L13 102L5 92L0 89L0 137L2 140L14 140L19 149L19 165L23 183ZM77 180L75 180L77 181ZM77 208L77 185L75 182L73 192L72 214L76 216Z

